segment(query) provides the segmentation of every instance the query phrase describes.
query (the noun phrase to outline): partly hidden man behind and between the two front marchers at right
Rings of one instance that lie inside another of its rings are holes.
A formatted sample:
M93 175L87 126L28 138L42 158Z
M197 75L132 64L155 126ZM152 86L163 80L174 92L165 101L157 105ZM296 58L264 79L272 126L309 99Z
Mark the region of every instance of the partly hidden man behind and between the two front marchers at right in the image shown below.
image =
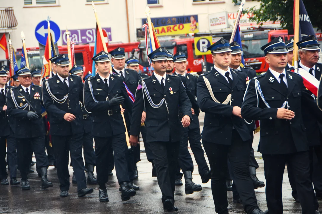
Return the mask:
M240 44L238 44L238 42L233 41L232 43L230 43L230 47L232 49L232 62L230 63L229 67L240 71L242 73L246 74L246 83L249 82L249 80L251 80L252 78L256 77L256 71L252 68L245 68L245 67L241 67L240 64L242 62L242 48L240 46ZM251 180L253 181L254 184L254 188L257 189L259 187L264 187L265 184L263 181L258 180L257 176L256 176L256 169L259 167L258 163L255 159L255 155L254 155L254 149L252 147L252 143L254 140L254 134L253 131L256 129L256 125L255 122L252 122L250 124L247 124L247 127L250 131L250 135L251 135L251 140L250 140L250 157L249 157L249 173L251 175ZM228 168L230 171L230 174L232 174L231 176L233 177L233 171L231 170L230 167L230 163L228 162ZM240 201L240 197L238 195L237 189L235 184L232 184L232 191L233 191L233 201L234 202L241 202Z

